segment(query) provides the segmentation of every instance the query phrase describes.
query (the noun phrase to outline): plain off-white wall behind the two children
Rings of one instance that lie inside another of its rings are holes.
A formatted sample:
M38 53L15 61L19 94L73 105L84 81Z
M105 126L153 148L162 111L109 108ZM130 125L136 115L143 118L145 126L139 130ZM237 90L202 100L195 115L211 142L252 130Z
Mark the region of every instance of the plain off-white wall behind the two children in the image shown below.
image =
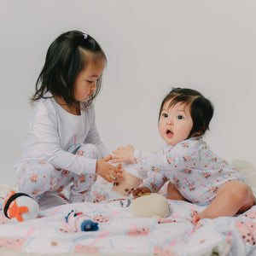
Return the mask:
M127 143L158 150L162 98L190 87L215 105L212 149L256 166L255 13L254 0L1 0L0 183L15 183L46 50L73 29L108 55L96 120L109 151Z

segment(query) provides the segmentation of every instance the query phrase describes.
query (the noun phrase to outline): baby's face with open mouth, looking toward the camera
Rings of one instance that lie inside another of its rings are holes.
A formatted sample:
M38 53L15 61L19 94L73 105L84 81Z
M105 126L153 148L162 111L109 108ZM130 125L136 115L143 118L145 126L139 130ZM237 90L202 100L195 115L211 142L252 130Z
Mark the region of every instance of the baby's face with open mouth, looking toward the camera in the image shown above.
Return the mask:
M167 101L160 113L159 132L168 145L175 146L177 143L189 137L193 127L193 120L189 112L189 106L179 102L168 108L170 102Z

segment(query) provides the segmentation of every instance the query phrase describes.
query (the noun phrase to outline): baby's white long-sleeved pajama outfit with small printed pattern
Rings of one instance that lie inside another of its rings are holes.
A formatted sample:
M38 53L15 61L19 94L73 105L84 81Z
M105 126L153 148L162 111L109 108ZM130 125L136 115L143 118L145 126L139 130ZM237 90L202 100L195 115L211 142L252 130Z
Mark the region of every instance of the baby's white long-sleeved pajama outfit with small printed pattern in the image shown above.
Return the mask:
M149 172L143 185L153 192L170 180L181 195L201 206L211 203L222 184L230 180L246 182L236 168L211 151L202 137L167 146L159 153L135 150L134 162L137 172Z

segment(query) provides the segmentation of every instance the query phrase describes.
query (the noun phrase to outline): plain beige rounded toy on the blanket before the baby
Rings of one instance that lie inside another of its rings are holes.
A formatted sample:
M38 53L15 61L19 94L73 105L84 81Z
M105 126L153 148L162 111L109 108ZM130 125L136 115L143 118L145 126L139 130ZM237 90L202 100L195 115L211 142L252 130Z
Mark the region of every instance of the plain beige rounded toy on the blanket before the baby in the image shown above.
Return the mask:
M133 217L166 218L169 213L169 202L165 196L157 193L145 193L131 201Z

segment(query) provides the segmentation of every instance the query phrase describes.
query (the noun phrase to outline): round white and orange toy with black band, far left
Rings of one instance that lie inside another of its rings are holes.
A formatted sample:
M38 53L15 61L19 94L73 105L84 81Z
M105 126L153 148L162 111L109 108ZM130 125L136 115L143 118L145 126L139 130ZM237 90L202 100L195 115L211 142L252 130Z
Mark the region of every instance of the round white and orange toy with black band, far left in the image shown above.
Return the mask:
M39 206L31 196L25 193L16 193L9 191L3 202L3 214L7 218L15 218L17 221L24 221L31 218L37 218Z

